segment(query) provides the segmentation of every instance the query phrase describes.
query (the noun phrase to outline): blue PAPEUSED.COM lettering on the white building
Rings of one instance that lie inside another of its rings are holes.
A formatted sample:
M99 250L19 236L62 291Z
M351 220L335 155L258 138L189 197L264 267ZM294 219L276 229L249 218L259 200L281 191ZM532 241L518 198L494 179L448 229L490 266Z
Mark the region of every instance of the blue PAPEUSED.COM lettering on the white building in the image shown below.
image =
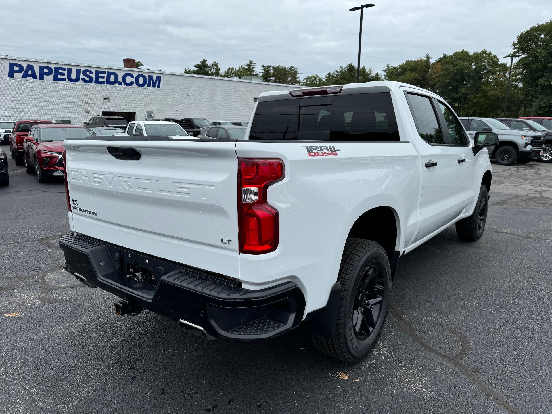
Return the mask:
M65 66L24 65L17 62L8 62L8 78L38 79L40 81L55 81L71 83L94 83L116 86L136 86L139 88L161 88L160 75L144 75L126 72L121 74L114 71L77 69ZM37 70L38 69L38 70Z

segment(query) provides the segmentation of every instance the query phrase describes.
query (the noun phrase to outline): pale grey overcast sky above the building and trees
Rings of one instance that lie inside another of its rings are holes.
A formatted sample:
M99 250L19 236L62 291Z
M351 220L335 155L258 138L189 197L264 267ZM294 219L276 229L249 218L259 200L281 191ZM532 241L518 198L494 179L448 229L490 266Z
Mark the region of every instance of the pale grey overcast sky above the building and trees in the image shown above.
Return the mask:
M426 53L511 52L550 19L550 0L374 0L364 9L361 65L381 71ZM338 0L2 0L0 54L182 72L200 59L222 70L252 59L294 65L301 78L356 63L359 2ZM507 61L507 59L502 59Z

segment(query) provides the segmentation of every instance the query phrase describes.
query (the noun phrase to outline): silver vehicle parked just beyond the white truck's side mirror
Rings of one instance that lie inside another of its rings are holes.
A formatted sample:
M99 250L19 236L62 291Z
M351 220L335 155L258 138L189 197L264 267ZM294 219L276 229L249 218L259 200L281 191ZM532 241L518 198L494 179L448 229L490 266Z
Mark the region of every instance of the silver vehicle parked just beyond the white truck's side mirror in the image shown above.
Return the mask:
M496 132L498 145L489 148L489 155L497 164L526 164L543 155L544 134L542 132L512 129L494 118L473 118L464 116L460 122L473 137L475 132Z

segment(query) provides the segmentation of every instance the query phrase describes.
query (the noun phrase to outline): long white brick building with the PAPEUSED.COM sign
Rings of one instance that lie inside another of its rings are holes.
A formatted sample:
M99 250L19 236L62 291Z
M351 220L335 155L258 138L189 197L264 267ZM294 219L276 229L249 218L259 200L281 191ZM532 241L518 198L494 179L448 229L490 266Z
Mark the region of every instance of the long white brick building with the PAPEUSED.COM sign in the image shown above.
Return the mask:
M137 84L139 86L137 86ZM71 120L126 114L249 120L261 92L297 86L0 56L1 120Z

